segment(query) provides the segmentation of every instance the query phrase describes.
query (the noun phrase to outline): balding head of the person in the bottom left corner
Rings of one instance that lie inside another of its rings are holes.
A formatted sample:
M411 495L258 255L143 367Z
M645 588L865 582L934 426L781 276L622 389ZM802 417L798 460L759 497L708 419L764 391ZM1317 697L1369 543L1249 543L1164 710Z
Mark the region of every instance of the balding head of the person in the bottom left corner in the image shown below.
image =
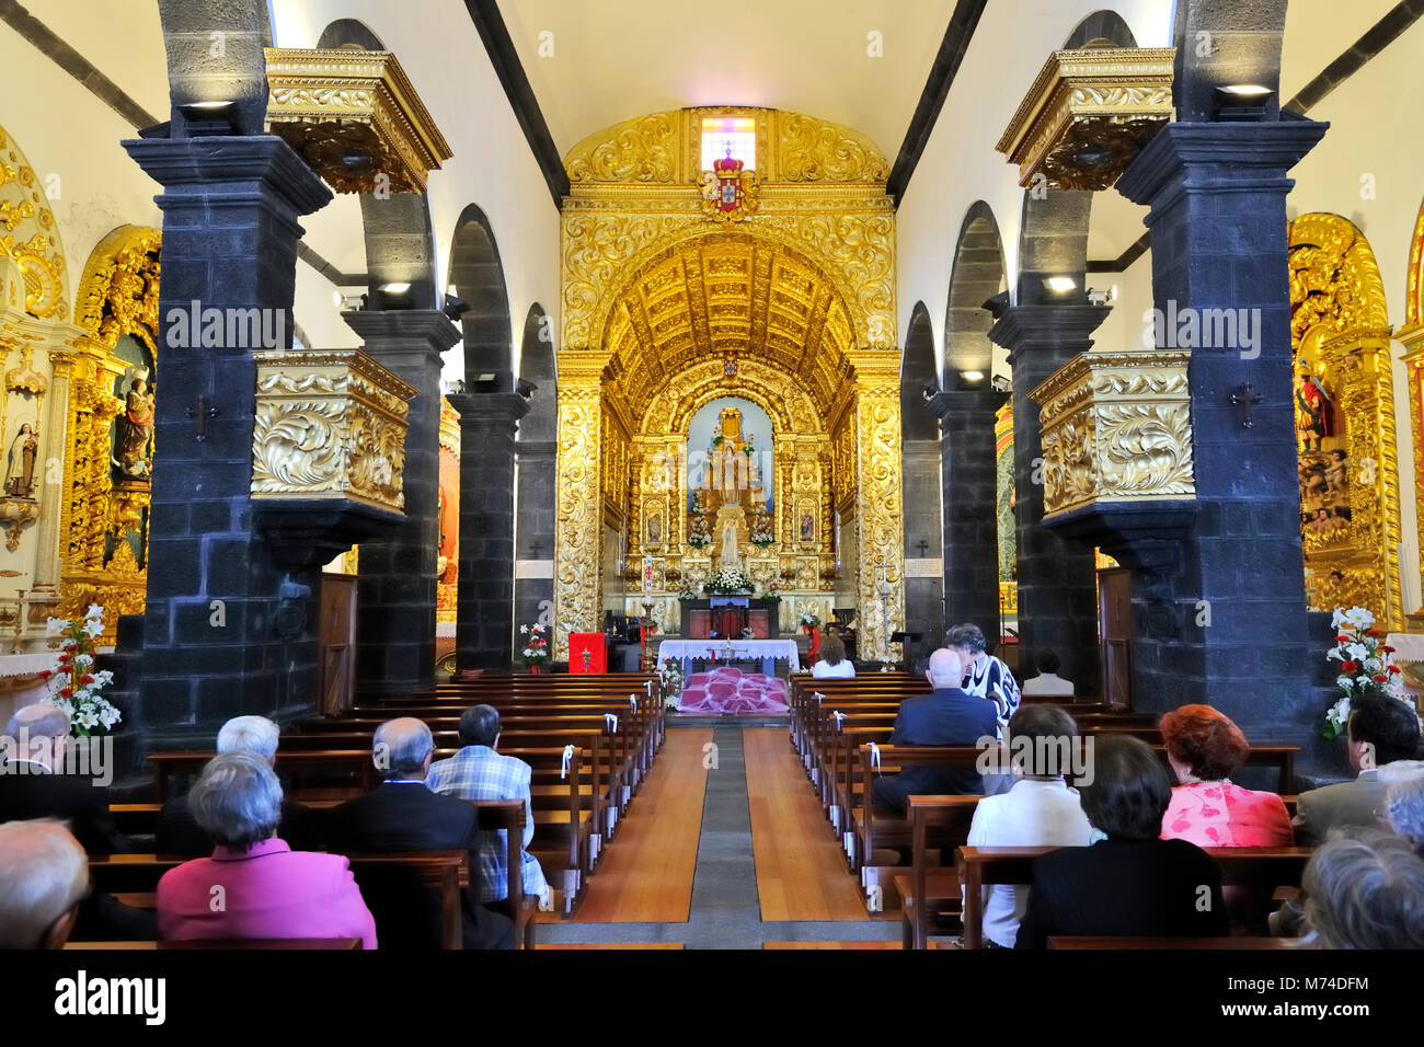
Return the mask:
M63 825L0 825L0 949L61 949L88 889L88 858Z

